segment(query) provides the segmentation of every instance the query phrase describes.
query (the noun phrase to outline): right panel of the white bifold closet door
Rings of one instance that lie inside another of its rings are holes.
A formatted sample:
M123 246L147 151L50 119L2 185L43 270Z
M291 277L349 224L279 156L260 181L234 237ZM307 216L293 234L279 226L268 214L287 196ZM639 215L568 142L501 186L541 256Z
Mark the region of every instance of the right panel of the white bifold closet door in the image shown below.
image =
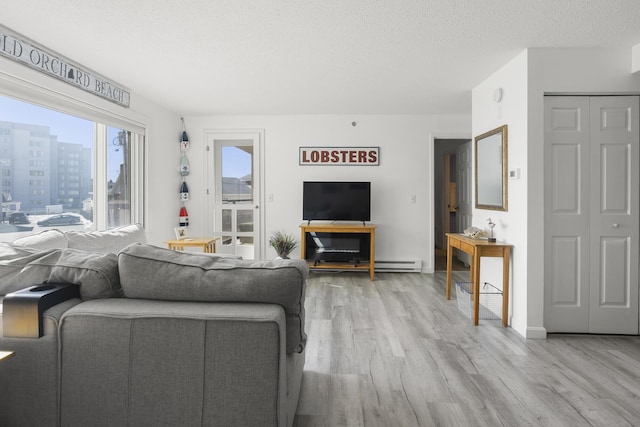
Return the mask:
M638 97L591 98L589 332L638 333Z

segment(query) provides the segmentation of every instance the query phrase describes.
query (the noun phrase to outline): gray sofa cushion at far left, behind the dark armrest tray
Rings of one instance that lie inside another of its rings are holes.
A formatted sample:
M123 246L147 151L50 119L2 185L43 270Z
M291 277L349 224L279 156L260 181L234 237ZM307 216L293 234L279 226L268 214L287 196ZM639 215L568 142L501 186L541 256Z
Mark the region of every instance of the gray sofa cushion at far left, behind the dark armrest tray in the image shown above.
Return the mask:
M49 249L0 259L0 295L28 286L73 283L83 300L122 296L118 257L75 249Z

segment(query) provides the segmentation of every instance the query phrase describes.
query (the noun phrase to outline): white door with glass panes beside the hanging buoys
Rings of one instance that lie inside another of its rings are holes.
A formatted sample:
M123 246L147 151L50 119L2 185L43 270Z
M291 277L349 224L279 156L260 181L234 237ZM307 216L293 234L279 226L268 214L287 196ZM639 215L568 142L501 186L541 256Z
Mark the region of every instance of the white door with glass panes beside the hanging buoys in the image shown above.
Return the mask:
M207 232L220 237L218 253L261 259L260 146L262 132L207 134L209 215Z

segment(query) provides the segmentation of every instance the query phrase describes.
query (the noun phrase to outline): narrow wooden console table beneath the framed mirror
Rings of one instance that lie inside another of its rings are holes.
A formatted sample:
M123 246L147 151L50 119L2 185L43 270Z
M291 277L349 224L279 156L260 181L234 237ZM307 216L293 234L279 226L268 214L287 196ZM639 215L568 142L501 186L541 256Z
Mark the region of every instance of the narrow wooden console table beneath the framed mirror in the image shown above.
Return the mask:
M480 309L480 258L502 258L502 326L507 326L509 315L509 259L511 247L503 242L472 239L463 234L447 233L447 299L451 299L451 262L453 248L471 255L471 289L473 291L473 324L478 324Z

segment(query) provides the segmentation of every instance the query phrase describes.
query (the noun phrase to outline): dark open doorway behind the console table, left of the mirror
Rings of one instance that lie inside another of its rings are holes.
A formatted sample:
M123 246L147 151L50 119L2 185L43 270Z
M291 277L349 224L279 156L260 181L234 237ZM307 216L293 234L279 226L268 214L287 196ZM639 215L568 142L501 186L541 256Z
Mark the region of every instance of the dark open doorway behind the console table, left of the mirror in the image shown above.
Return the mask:
M469 138L434 139L435 271L446 270L446 233L460 233L471 225L471 150ZM465 256L457 254L454 270L468 270Z

